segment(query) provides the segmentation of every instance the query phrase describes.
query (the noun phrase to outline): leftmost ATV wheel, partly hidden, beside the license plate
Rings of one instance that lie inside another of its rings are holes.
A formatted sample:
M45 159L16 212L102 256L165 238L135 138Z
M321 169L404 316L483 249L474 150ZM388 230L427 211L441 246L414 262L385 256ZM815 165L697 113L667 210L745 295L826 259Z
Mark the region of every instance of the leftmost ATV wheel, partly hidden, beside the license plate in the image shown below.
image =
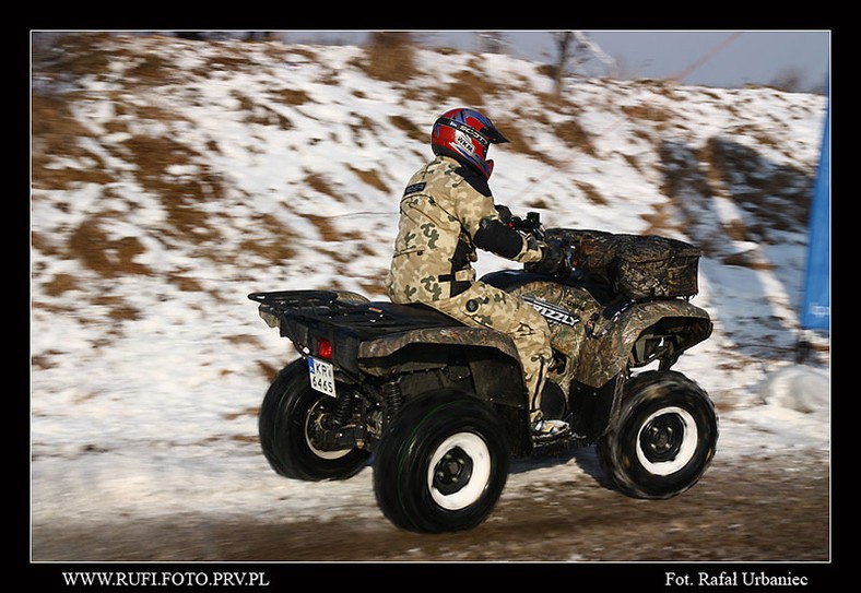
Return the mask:
M280 475L316 482L345 479L357 474L370 456L362 449L322 451L309 437L309 423L334 407L334 399L311 389L303 359L284 367L260 406L260 447Z

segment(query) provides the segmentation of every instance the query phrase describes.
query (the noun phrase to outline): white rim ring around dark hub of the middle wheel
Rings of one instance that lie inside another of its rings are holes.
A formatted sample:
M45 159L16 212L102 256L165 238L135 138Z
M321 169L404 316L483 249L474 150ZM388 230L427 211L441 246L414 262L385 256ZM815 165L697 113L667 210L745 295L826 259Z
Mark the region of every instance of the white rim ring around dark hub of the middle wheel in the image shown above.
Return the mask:
M470 458L472 474L467 484L458 491L445 494L434 485L434 472L446 453L455 449L460 449ZM444 440L434 451L427 469L427 488L437 505L446 510L457 511L473 505L481 498L491 481L491 451L484 439L473 432L458 432Z

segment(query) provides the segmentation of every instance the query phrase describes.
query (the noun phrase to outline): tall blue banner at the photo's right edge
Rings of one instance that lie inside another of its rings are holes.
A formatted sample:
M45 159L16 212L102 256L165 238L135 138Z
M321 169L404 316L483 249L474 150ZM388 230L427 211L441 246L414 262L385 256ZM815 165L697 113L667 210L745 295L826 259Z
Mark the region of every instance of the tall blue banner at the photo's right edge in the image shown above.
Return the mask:
M804 301L801 327L805 330L829 329L831 322L831 158L830 100L825 111L822 155L813 188L807 239L807 269L804 276Z

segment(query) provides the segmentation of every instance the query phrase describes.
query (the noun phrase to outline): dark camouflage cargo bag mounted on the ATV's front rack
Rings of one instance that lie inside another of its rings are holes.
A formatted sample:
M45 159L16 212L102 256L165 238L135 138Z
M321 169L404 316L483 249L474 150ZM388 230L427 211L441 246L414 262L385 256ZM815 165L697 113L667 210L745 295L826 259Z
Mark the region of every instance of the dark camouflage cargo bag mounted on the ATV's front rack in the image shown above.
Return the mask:
M697 294L703 252L684 241L657 235L567 230L564 240L579 247L578 266L638 300Z

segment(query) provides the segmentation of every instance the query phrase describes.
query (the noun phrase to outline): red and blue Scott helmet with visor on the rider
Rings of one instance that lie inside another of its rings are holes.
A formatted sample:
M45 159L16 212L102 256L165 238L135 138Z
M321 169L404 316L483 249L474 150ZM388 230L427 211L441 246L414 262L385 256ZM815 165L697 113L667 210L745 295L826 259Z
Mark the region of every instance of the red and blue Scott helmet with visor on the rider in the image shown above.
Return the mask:
M490 118L475 109L462 107L439 116L431 133L431 147L435 155L445 154L465 162L485 179L490 179L493 173L493 161L487 158L487 149L491 144L505 142L508 140Z

